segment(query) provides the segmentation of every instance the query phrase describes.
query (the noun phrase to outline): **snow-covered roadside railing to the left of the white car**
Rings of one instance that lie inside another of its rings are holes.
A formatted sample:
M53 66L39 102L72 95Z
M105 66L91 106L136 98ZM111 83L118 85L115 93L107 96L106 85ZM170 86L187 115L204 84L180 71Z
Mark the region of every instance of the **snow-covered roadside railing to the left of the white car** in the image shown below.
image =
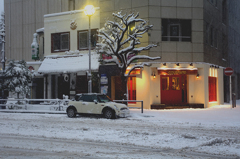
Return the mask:
M0 104L0 106L6 106L8 109L19 109L24 108L28 109L28 106L48 106L50 110L63 111L63 106L67 105L69 99L0 99L0 102L6 101L4 104ZM29 104L30 102L42 102L39 104Z

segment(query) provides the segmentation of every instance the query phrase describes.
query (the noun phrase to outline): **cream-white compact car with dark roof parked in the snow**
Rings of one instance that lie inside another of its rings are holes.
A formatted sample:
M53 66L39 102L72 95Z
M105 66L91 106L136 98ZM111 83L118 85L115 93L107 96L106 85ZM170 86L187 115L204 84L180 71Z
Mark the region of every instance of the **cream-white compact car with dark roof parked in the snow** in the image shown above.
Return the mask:
M69 101L66 111L70 118L76 114L102 114L107 119L114 119L130 114L125 104L112 102L108 96L97 93L77 94L75 100Z

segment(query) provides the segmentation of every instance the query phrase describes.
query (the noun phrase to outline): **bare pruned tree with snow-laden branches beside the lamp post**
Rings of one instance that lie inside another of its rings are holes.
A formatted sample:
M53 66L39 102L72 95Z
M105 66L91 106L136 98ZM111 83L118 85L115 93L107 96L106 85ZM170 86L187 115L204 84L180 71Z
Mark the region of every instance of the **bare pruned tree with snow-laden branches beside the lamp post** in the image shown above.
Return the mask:
M149 66L149 62L136 63L128 73L128 66L135 60L156 60L160 57L150 57L147 55L139 55L141 51L149 50L156 47L155 44L149 44L144 47L138 47L142 35L147 33L153 25L147 25L147 21L138 18L139 13L122 14L122 12L113 13L114 21L107 21L102 29L99 30L100 43L97 44L97 51L100 54L112 57L111 59L103 59L104 63L116 63L120 69L120 76L123 86L127 86L127 79L135 68L143 68ZM123 88L127 89L127 88ZM127 92L127 90L125 90Z

